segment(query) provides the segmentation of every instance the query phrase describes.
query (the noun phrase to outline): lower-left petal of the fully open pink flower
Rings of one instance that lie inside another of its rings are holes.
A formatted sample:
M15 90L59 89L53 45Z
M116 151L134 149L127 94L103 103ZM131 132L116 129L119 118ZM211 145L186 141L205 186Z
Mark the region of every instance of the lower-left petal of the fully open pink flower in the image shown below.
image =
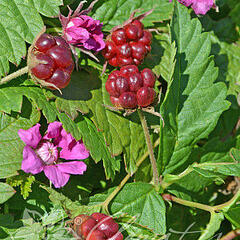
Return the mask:
M29 146L23 149L23 161L21 169L26 173L38 174L43 170L43 163Z

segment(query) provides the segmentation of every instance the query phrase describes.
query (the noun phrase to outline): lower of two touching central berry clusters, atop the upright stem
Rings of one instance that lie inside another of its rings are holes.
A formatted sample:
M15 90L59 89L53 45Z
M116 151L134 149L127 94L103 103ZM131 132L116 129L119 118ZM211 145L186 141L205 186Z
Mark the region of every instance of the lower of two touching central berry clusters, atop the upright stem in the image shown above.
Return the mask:
M116 107L136 108L147 107L154 101L155 75L145 68L141 72L137 66L128 65L115 70L106 82L106 90L110 94L110 100Z

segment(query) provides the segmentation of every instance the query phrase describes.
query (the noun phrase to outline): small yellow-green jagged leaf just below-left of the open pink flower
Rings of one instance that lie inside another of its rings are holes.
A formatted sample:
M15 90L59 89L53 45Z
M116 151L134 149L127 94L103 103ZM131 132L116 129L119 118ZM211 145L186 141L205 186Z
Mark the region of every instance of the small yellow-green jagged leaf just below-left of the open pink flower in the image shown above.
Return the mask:
M24 199L26 199L29 196L29 193L32 191L31 186L32 183L35 181L34 176L28 176L28 174L25 174L21 172L21 174L17 176L13 176L11 178L7 179L7 183L12 187L20 186L21 189L21 195Z

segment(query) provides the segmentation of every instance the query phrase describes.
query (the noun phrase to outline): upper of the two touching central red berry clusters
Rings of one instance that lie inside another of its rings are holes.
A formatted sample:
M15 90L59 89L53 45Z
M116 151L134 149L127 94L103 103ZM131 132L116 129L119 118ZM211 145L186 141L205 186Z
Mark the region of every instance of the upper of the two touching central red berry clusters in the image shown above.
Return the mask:
M144 30L143 24L135 19L112 32L102 54L114 67L139 65L151 51L151 43L152 34Z

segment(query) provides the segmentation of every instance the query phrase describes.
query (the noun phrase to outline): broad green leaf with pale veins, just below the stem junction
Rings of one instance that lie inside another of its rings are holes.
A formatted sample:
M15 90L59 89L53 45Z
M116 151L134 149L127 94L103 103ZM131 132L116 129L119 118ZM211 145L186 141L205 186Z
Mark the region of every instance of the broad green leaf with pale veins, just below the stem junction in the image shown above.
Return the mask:
M110 189L106 194L91 197L90 204L104 202L112 191L113 189ZM136 223L147 226L156 234L166 232L165 204L151 184L142 182L126 184L112 200L109 210L114 215L127 213L136 217Z

